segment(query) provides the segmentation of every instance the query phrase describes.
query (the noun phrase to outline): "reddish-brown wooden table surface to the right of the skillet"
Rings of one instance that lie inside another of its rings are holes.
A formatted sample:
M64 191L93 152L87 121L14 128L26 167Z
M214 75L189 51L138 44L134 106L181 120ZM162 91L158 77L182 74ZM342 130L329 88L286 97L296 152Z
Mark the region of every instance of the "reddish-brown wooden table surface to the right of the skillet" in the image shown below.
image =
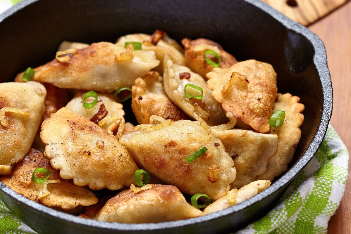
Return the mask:
M351 149L351 1L308 27L324 42L333 85L334 107L330 123ZM351 160L350 160L351 162ZM346 191L328 234L351 234L351 163Z

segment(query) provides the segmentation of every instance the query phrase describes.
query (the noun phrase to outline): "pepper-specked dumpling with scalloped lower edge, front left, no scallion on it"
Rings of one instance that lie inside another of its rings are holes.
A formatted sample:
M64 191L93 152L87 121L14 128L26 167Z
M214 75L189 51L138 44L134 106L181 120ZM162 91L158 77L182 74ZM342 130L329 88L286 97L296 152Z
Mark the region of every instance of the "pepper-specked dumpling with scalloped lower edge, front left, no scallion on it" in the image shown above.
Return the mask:
M105 129L65 107L42 123L40 137L63 179L93 190L117 190L134 183L138 167L127 149Z

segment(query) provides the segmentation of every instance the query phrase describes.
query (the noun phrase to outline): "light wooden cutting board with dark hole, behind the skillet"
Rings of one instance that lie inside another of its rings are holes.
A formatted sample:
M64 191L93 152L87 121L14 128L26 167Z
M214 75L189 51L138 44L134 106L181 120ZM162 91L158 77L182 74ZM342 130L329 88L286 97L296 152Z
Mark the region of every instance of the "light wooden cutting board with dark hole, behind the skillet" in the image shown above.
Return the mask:
M289 17L310 25L348 0L261 0Z

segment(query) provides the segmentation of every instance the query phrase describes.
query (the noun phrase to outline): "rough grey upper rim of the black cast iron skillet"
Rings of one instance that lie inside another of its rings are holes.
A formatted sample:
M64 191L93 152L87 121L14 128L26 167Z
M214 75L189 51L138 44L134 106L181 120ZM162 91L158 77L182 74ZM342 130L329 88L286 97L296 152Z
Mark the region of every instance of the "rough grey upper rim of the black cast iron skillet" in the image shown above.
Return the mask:
M17 11L21 10L22 8L33 4L39 0L24 0L19 4L15 5L14 7L8 9L4 13L0 15L0 23L6 19L8 16L16 13ZM54 216L55 218L60 218L62 220L77 223L80 225L97 227L97 228L106 228L111 230L121 230L121 231L128 231L128 230L157 230L157 229L165 229L165 228L174 228L174 227L182 227L182 226L190 226L195 223L206 222L212 219L219 218L221 216L229 215L231 213L237 212L239 210L245 209L253 205L254 203L270 196L272 193L279 190L280 187L284 186L285 184L289 183L302 169L307 165L307 163L312 159L314 153L317 152L318 147L322 143L322 140L325 136L328 123L331 118L332 108L333 108L333 90L331 85L331 77L329 73L329 69L327 66L326 60L326 51L323 42L319 39L317 35L312 33L310 30L305 28L304 26L296 23L285 15L279 13L277 10L273 9L272 7L264 4L258 0L243 0L257 8L263 10L264 12L271 15L274 19L282 23L286 28L305 36L312 44L314 48L314 56L313 62L316 65L316 69L319 74L320 81L322 83L322 92L323 92L323 112L322 117L318 126L318 130L316 135L303 154L303 156L297 161L295 165L293 165L282 177L280 177L277 181L275 181L269 188L260 192L256 196L243 201L235 206L226 208L224 210L207 214L204 216L200 216L197 218L185 219L185 220L177 220L177 221L170 221L170 222L161 222L161 223L118 223L118 222L104 222L104 221L96 221L96 220L89 220L80 218L71 214L66 214L63 212L56 211L44 205L38 204L32 200L29 200L22 195L16 193L15 191L8 188L6 185L0 182L0 189L4 191L6 194L11 196L12 198L16 199L19 202L24 203L27 206L30 206L40 212L43 212L45 215Z

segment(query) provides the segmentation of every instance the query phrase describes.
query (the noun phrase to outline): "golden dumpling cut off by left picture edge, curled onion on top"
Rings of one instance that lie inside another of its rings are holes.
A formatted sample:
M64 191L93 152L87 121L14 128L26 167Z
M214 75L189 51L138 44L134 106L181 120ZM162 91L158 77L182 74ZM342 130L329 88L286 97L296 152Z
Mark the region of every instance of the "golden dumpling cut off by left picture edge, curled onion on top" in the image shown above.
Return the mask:
M28 153L44 114L44 85L0 83L0 175Z

